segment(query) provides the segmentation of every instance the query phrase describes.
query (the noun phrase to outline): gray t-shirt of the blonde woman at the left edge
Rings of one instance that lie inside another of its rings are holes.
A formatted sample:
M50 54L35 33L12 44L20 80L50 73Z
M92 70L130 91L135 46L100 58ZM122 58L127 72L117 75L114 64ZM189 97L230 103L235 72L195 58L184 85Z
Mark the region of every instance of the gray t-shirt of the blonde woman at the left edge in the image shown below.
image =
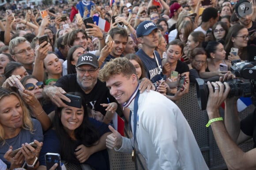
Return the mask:
M34 140L39 142L44 140L41 123L37 119L32 119L32 123L34 129L32 133L30 133L30 130L21 129L17 136L11 139L6 139L4 145L2 145L2 142L0 143L0 159L4 161L8 168L10 168L11 164L4 159L4 154L8 151L9 145L12 146L12 150L14 151L15 149L20 148L22 144L31 143Z

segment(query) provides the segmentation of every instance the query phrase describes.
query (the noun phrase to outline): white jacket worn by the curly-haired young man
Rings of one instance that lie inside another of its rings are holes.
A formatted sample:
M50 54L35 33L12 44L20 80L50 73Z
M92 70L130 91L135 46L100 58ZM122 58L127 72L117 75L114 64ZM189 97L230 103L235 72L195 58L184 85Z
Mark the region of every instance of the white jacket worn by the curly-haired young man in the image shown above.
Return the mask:
M128 105L132 130L133 106L134 100ZM136 151L149 170L208 170L187 120L173 101L151 90L139 95L138 108ZM117 151L131 153L133 141L123 137Z

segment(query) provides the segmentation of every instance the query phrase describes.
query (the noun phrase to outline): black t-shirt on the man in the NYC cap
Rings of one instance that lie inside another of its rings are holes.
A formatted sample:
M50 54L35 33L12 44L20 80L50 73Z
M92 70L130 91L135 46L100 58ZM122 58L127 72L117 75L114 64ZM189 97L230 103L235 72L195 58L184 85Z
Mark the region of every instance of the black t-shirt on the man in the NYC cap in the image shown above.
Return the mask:
M95 109L95 111L101 112L104 116L106 114L106 108L102 107L100 104L116 102L118 105L116 112L118 113L118 115L122 116L120 105L118 104L116 99L110 95L109 90L106 87L106 84L102 83L100 80L97 80L97 83L95 84L94 88L91 90L89 94L85 94L82 88L77 83L76 74L68 74L62 76L55 83L55 86L63 88L63 90L65 90L67 93L77 91L81 94L84 94L87 106L90 107L90 109Z

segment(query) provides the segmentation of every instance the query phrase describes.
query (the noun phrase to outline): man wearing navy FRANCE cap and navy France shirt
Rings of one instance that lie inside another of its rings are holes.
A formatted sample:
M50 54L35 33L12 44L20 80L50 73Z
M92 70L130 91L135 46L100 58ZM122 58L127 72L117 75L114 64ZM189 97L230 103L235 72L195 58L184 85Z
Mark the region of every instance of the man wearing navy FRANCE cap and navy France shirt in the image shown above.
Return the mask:
M147 78L157 87L156 82L163 77L161 58L155 51L155 47L158 46L158 29L154 22L144 21L138 25L136 33L139 42L142 43L136 54L144 63Z

